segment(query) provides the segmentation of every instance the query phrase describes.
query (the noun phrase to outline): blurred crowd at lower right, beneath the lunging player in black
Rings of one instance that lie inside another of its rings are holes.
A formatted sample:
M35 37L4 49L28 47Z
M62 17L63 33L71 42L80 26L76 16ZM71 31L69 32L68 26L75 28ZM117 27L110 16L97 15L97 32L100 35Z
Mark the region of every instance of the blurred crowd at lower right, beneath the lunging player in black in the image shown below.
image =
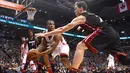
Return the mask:
M108 56L104 53L95 55L91 52L87 52L80 70L83 73L106 73L108 66L107 57ZM115 61L115 68L116 73L130 72L130 67L123 66L118 61ZM112 69L111 72L114 73Z

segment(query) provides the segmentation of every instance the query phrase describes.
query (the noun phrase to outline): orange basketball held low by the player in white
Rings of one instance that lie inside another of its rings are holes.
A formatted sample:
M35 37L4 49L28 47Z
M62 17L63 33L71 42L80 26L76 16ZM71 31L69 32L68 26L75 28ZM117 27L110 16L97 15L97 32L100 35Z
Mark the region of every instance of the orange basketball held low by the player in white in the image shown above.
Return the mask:
M40 57L39 54L40 52L37 49L31 49L27 54L27 58L29 60L37 61Z

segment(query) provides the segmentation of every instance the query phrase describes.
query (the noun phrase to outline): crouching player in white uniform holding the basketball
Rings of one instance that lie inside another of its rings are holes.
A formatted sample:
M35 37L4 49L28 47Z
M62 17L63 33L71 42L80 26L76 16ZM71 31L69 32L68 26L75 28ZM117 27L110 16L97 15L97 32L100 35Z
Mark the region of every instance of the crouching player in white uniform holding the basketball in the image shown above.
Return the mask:
M55 29L55 22L53 20L48 20L46 24L48 28L47 32L53 31ZM59 55L61 58L61 62L66 66L66 68L70 68L71 66L68 60L69 46L61 34L42 38L41 45L39 45L36 50L41 52L39 53L39 56L41 56L42 54L42 56L44 57L44 63L49 73L53 73L49 61L49 54L51 54L53 58Z

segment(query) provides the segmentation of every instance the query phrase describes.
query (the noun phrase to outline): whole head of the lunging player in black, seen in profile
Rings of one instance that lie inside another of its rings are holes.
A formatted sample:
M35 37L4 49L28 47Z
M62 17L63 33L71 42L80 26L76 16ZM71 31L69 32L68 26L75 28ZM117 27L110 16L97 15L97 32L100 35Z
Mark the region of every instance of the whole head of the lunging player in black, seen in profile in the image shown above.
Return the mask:
M87 4L84 1L75 2L75 15L79 16L87 10Z

